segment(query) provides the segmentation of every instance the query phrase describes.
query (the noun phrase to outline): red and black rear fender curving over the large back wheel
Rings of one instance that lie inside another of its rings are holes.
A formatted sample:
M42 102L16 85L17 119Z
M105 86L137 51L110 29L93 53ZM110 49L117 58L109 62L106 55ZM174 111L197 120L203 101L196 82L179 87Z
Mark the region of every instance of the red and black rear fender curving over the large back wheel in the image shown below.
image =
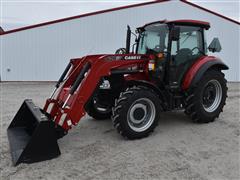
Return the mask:
M196 85L204 73L209 69L217 69L221 71L228 70L229 67L219 58L214 56L204 56L197 60L188 70L183 80L182 89L186 91Z

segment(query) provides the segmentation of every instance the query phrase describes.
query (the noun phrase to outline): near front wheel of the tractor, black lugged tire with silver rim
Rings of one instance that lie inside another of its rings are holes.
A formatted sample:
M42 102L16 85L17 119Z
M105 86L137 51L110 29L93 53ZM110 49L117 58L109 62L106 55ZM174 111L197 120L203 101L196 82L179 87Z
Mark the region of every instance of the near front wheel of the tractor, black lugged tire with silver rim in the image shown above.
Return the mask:
M134 86L116 100L112 122L123 137L147 137L157 126L161 109L161 101L151 89Z

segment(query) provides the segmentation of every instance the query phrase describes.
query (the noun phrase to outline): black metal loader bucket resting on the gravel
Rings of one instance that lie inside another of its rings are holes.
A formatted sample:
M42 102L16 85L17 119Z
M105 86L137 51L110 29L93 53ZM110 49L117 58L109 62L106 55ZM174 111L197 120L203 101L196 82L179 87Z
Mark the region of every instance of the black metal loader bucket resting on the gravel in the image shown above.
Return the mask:
M59 156L54 122L25 100L7 129L14 165L33 163Z

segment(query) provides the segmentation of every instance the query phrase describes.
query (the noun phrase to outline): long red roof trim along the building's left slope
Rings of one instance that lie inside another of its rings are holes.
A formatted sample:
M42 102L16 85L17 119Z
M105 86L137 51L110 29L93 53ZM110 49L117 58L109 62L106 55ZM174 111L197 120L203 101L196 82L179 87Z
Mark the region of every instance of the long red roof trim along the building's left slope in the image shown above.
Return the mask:
M108 12L112 12L112 11L118 11L118 10L122 10L122 9L134 8L134 7L139 7L139 6L145 6L145 5L155 4L155 3L163 3L163 2L168 2L168 1L170 1L170 0L155 0L155 1L150 1L150 2L120 6L120 7L116 7L116 8L110 8L110 9L85 13L85 14L81 14L81 15L77 15L77 16L70 16L67 18L61 18L61 19L57 19L57 20L53 20L53 21L43 22L43 23L39 23L39 24L34 24L34 25L30 25L30 26L25 26L25 27L21 27L21 28L17 28L17 29L4 31L4 32L0 33L0 36L5 35L5 34L10 34L10 33L15 33L18 31L24 31L27 29L33 29L33 28L37 28L37 27L41 27L41 26L47 26L50 24L60 23L60 22L68 21L68 20L78 19L78 18L82 18L82 17L93 16L93 15L97 15L97 14L103 14L103 13L108 13Z

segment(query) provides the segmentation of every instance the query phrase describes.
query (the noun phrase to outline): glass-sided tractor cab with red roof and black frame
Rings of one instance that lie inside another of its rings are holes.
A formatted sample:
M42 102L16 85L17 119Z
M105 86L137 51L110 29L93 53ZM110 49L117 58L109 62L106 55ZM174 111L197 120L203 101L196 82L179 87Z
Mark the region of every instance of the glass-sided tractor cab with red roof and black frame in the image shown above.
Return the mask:
M179 88L187 70L207 54L204 31L208 22L194 20L157 21L137 28L136 54L153 55L153 79ZM129 38L127 38L129 39ZM217 46L220 47L218 39ZM128 44L128 42L127 42ZM213 48L216 52L216 48Z

